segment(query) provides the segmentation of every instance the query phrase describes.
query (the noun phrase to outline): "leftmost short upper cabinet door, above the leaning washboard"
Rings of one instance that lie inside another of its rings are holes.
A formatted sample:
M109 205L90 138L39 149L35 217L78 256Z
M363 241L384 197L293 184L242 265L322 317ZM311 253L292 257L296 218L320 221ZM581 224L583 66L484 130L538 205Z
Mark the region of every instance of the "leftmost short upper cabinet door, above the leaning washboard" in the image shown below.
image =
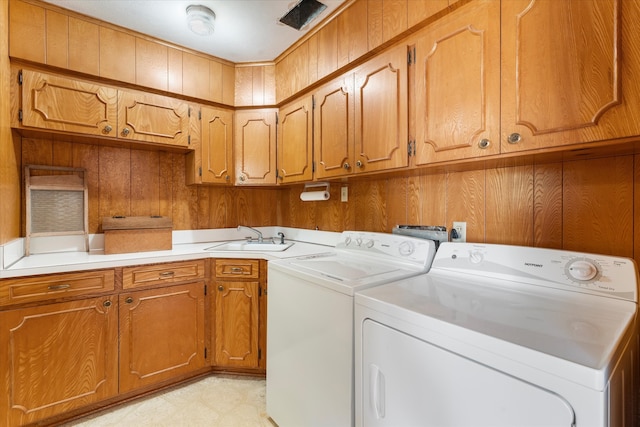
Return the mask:
M116 89L22 70L22 126L116 136Z

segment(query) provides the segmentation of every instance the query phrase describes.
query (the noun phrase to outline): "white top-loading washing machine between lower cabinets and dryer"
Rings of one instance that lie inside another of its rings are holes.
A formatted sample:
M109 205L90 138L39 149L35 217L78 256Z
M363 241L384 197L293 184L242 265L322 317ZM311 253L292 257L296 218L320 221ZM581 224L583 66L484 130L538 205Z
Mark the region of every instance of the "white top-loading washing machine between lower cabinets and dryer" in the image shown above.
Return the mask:
M267 413L280 427L354 423L353 295L428 271L434 242L345 231L335 250L270 261Z

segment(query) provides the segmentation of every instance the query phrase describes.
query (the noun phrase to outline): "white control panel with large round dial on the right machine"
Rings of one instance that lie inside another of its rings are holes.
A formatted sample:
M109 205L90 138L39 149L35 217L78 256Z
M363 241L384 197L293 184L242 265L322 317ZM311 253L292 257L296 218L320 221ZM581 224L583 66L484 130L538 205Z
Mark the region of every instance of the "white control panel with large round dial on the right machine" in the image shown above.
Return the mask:
M435 271L456 271L556 289L638 301L632 259L555 249L474 243L443 243Z

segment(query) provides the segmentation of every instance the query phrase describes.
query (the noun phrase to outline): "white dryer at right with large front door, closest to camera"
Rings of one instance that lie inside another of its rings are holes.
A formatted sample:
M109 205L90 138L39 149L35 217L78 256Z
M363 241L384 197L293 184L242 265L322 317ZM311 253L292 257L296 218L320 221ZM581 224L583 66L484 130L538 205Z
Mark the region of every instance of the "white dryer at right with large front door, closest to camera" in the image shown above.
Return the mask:
M428 274L355 296L356 425L636 425L626 258L443 243Z

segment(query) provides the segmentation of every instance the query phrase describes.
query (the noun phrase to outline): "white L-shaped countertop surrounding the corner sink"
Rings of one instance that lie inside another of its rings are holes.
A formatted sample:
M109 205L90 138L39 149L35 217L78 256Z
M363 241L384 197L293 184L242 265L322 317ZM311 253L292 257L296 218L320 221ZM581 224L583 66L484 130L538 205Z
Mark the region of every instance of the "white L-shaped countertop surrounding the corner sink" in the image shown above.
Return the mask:
M286 241L294 244L282 252L215 251L206 250L227 241L243 240L246 231L236 229L174 231L173 249L154 252L135 252L105 255L103 250L89 252L51 252L22 256L5 269L0 278L64 273L159 262L186 261L203 258L281 259L327 252L335 247L340 233L285 227L257 227L265 237L284 232Z

